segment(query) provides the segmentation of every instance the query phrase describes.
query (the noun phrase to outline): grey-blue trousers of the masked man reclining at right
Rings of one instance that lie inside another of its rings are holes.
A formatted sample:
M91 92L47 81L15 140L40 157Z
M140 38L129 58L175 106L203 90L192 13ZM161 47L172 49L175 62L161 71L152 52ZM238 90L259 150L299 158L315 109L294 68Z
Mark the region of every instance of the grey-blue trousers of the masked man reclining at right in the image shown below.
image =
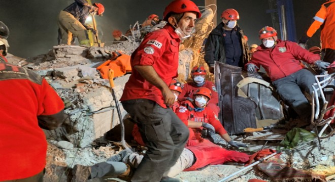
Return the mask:
M301 69L272 83L279 96L299 115L300 119L310 120L312 107L303 92L312 96L314 75L307 69Z

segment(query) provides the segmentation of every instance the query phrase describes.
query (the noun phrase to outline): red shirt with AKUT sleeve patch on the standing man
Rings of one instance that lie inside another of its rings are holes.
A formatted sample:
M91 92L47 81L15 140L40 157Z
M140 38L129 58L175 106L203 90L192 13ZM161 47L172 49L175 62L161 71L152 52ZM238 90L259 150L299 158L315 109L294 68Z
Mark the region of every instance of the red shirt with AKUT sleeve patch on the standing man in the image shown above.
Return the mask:
M131 55L132 72L124 86L120 101L150 99L166 108L161 91L133 67L150 65L166 85L169 85L172 78L178 76L179 42L179 36L171 25L146 35L140 47Z

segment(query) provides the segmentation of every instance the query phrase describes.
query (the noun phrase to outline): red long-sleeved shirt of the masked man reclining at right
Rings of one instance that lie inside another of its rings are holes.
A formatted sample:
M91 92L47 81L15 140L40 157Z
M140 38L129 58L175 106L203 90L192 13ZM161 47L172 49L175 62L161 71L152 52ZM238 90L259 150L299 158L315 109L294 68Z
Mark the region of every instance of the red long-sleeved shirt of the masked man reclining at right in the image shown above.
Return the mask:
M258 68L261 65L271 81L275 81L303 69L299 60L314 64L320 60L320 56L308 52L295 42L278 39L273 49L267 49L263 44L258 46L245 68L247 69L249 64L254 64Z

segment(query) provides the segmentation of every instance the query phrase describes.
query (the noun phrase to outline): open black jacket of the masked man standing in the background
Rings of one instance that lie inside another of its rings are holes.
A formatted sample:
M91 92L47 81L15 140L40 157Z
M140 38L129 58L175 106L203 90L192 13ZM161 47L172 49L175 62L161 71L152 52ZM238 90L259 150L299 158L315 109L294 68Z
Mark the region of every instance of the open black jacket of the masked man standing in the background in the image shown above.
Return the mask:
M243 66L249 61L249 45L244 38L243 30L236 25L235 29L238 31L240 38L241 49L243 56L241 60ZM205 44L205 61L208 66L214 66L214 61L226 63L225 51L224 51L224 36L223 36L223 23L221 22L212 32L209 34Z

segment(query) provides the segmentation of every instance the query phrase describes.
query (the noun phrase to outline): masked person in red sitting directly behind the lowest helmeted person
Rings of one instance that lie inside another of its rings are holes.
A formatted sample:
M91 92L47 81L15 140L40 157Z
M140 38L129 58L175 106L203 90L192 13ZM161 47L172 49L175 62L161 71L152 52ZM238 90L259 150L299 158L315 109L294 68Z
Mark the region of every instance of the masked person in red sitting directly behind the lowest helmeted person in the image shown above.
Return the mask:
M216 86L212 81L205 80L207 75L204 66L194 66L191 71L192 81L183 85L183 92L179 95L178 101L183 102L185 100L191 100L193 98L193 93L200 87L206 87L211 90L212 99L207 104L216 115L219 115L220 108L218 106L219 96L216 90Z

